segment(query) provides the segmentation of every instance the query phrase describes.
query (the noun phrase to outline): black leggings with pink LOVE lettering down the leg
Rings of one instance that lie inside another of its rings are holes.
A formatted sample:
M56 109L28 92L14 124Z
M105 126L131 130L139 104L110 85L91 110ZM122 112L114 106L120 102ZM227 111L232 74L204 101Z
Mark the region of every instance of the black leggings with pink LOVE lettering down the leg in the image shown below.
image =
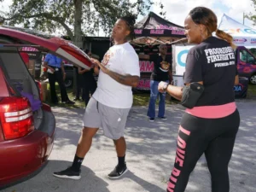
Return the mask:
M228 166L240 115L236 110L220 119L203 119L184 113L177 137L174 168L167 192L183 192L196 162L205 154L212 178L212 192L229 192Z

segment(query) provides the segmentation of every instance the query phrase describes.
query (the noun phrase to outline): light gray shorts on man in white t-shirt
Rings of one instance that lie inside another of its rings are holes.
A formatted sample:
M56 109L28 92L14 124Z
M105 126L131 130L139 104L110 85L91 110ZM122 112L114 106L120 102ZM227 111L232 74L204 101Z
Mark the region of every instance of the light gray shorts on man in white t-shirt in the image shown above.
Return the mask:
M117 140L124 136L130 108L110 108L90 97L84 112L84 126L102 128L104 135Z

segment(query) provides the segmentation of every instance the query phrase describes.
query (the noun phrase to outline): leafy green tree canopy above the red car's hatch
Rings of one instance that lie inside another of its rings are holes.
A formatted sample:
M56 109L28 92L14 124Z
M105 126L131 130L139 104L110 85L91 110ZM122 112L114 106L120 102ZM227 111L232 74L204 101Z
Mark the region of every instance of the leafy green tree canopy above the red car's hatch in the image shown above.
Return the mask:
M121 15L143 15L151 5L151 0L14 0L9 13L1 15L8 25L23 23L43 32L65 29L74 40L96 35L99 28L108 34Z

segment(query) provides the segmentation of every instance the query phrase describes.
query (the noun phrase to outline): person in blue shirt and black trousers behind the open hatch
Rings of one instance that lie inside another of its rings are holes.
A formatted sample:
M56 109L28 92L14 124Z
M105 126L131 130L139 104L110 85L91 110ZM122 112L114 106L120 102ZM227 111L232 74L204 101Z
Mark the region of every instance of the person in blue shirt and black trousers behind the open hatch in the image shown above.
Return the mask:
M55 82L58 82L61 90L61 102L65 102L67 104L74 104L74 102L70 101L67 96L67 90L64 84L66 73L64 70L62 59L60 57L57 57L56 55L47 54L44 59L44 67L47 68L48 72L51 102L53 102L54 104L58 103L58 97L55 91Z

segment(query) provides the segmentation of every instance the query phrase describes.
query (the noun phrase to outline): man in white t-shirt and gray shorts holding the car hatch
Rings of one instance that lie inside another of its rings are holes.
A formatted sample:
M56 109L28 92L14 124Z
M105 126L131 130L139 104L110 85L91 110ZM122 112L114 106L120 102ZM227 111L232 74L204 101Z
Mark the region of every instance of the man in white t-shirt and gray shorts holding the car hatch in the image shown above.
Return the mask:
M113 139L118 165L110 178L119 178L128 171L125 163L126 143L124 137L125 124L132 105L132 87L137 87L140 77L137 53L127 42L134 38L135 18L125 16L117 20L113 26L113 47L108 49L102 63L92 62L100 67L98 86L90 98L84 113L84 129L79 139L73 165L61 172L54 172L55 177L79 179L80 167L85 154L88 153L92 137L100 127L104 135Z

